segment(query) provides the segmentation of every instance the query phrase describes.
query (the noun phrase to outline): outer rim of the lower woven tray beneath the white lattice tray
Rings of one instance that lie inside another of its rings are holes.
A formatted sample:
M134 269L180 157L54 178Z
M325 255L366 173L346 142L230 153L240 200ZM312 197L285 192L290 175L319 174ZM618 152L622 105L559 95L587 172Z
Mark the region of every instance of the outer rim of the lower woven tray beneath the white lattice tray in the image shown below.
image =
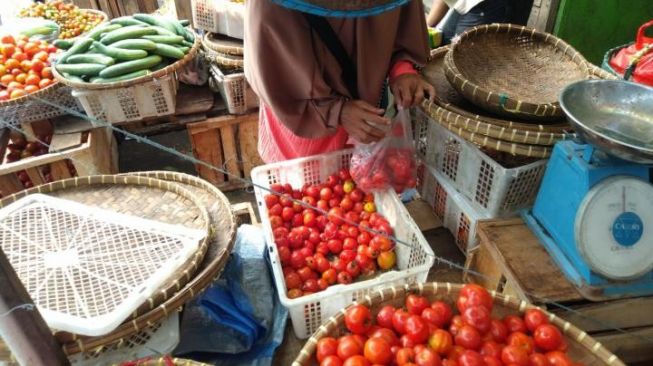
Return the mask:
M172 182L181 182L189 185L195 185L198 188L204 188L207 191L215 194L216 200L221 201L225 207L231 207L227 197L218 188L200 178L188 174L170 171L147 171L125 174L137 178L143 178L143 176L155 177L154 179L157 180L170 180ZM211 283L213 283L213 280L219 276L220 273L222 273L222 270L224 269L227 260L229 259L229 256L226 254L230 253L234 246L236 239L236 230L238 228L233 211L230 210L230 215L228 218L230 221L229 227L225 228L225 230L220 231L225 233L225 238L227 238L227 242L225 243L226 247L218 255L216 255L215 259L213 259L207 266L197 271L195 276L190 281L188 281L188 283L186 283L181 290L172 294L167 300L152 310L138 316L135 319L121 324L118 328L109 334L106 334L102 337L80 337L75 339L73 342L64 344L62 346L64 353L67 355L72 355L93 350L97 347L103 347L106 345L121 342L123 338L129 337L134 333L139 332L141 329L151 325L152 323L160 321L161 319L171 314L173 311L180 311L185 303L192 300L202 291L204 291Z

